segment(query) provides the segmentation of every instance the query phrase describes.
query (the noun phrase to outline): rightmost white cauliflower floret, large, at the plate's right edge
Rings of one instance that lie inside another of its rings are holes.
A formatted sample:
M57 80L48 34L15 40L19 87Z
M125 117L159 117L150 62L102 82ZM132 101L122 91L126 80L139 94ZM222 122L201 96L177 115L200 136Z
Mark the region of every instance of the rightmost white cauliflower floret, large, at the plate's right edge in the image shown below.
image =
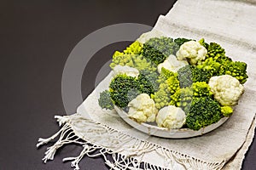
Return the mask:
M211 77L209 81L214 98L221 105L236 105L244 91L240 82L230 75Z

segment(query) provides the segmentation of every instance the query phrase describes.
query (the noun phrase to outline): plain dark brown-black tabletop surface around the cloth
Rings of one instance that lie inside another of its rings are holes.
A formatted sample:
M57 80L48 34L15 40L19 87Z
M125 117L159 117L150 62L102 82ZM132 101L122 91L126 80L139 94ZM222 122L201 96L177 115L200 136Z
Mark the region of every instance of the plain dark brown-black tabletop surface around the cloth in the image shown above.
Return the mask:
M36 149L39 137L49 137L57 126L54 116L66 115L61 99L61 74L75 45L103 26L133 22L154 26L171 0L1 1L1 132L0 169L71 169L67 156L78 156L77 145L57 151L55 161L41 161L46 146ZM97 71L115 49L128 42L102 48L84 71L84 98L94 88ZM225 141L224 141L225 142ZM50 144L48 144L49 146ZM255 169L256 143L250 147L243 169ZM108 169L101 158L85 157L81 169Z

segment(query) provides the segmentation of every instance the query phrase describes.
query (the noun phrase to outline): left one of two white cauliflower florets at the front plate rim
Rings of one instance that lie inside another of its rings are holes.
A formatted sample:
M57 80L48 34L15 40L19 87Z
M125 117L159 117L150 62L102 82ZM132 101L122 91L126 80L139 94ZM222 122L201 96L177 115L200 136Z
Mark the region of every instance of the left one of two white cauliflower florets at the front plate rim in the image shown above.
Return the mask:
M128 104L128 116L137 122L154 122L157 115L157 109L154 106L154 100L150 99L148 94L139 94L137 98L132 99Z

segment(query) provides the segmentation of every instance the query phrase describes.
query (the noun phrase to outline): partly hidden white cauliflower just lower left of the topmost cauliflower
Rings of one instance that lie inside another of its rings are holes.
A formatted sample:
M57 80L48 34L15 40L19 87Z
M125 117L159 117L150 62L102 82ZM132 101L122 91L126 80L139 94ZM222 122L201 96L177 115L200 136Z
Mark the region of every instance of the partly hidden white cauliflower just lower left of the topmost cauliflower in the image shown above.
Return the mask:
M185 65L189 65L186 60L177 60L175 55L170 55L163 63L160 63L157 66L157 69L159 73L161 72L162 67L166 68L169 71L177 72Z

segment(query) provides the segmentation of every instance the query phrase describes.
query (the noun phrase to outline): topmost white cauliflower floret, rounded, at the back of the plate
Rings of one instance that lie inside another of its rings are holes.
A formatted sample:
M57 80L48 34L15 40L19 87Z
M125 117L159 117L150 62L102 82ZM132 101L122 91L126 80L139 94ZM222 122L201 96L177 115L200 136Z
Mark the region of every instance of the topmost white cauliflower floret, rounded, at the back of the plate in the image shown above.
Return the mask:
M176 55L178 60L188 59L191 65L196 65L206 59L207 48L202 46L200 42L184 42L183 45L180 46Z

